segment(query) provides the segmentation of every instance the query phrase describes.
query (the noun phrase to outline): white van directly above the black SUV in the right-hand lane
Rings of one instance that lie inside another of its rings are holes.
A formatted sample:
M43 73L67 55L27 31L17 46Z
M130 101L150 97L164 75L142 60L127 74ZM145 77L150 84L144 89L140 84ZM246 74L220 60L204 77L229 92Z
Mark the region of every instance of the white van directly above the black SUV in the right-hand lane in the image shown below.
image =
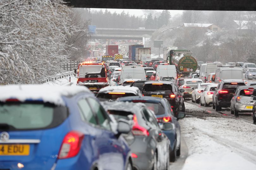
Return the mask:
M225 79L244 79L243 69L241 67L219 67L215 73L215 83Z

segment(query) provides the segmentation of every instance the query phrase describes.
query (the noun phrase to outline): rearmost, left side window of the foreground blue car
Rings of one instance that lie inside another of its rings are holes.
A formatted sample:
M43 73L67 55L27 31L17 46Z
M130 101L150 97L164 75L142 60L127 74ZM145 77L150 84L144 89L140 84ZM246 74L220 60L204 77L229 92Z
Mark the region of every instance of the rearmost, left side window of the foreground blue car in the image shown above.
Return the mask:
M79 100L77 104L80 111L79 113L81 116L81 120L97 125L96 119L88 102L85 99L82 99Z

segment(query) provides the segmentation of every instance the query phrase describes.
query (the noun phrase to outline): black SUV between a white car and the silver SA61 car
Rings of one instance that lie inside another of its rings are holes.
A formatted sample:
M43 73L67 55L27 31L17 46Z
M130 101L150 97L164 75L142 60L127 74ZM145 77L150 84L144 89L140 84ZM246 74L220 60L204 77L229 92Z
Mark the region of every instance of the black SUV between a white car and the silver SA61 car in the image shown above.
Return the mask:
M221 111L221 108L229 108L230 101L237 87L245 85L243 80L222 80L212 96L212 108Z

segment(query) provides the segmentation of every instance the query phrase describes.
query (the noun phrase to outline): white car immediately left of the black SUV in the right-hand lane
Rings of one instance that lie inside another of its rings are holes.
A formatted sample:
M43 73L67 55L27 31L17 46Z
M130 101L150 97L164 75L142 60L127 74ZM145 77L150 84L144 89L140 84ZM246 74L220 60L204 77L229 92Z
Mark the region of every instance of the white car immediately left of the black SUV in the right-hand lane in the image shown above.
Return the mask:
M204 105L206 107L206 106L209 106L209 104L212 104L212 95L216 90L216 88L217 88L217 84L211 84L205 87L200 97L201 106Z

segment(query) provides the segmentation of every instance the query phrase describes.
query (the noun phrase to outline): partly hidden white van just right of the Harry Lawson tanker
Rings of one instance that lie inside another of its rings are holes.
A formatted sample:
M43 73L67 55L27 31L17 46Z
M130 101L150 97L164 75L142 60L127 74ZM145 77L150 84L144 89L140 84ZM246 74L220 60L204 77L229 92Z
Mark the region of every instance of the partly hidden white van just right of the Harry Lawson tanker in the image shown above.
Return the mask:
M199 79L203 80L203 82L206 82L207 77L210 73L215 73L216 69L218 67L222 67L222 63L207 63L207 64L202 64L200 67L200 72L199 72Z

